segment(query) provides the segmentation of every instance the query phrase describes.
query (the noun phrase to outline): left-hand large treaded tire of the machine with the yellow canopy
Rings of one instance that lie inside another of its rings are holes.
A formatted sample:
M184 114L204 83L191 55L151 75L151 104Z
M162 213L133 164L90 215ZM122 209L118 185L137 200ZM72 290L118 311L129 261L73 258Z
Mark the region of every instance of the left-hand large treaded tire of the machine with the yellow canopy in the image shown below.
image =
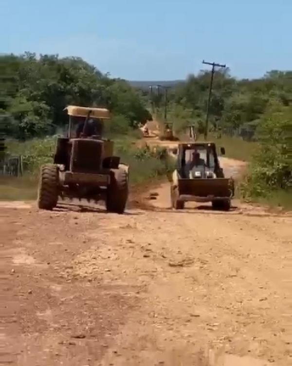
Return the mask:
M53 210L58 202L59 172L55 164L45 164L40 169L37 206Z

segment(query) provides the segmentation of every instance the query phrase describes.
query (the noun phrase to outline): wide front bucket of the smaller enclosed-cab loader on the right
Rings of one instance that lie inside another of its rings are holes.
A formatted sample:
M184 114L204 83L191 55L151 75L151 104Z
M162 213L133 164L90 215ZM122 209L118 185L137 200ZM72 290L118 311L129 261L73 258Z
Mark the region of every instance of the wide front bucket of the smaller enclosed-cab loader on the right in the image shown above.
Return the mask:
M179 179L180 201L210 202L230 200L234 195L233 181L228 178Z

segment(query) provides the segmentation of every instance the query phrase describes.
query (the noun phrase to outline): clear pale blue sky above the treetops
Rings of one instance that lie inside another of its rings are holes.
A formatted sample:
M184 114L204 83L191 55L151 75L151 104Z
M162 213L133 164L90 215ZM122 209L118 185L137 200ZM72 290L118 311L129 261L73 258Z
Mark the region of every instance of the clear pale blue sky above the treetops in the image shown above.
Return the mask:
M131 80L226 63L236 77L292 69L292 0L0 0L0 53L79 56Z

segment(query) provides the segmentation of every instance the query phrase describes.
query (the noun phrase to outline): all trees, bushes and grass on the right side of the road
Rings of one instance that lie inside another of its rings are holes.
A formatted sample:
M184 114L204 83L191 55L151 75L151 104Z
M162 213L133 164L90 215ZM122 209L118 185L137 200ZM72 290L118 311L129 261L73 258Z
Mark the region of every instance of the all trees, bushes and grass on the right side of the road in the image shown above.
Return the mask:
M292 209L292 71L273 70L255 80L237 80L229 70L214 78L210 132L226 156L249 162L241 197ZM204 132L210 72L190 75L168 92L168 117L177 135L194 125ZM152 108L163 121L164 95Z

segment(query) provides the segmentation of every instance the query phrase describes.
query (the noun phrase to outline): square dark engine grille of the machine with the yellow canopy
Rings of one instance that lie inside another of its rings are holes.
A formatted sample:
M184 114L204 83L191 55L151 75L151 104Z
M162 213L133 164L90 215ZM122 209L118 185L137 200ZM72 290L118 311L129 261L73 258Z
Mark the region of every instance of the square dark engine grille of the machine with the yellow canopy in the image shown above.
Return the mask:
M78 173L98 173L103 158L102 140L76 138L72 141L70 170Z

